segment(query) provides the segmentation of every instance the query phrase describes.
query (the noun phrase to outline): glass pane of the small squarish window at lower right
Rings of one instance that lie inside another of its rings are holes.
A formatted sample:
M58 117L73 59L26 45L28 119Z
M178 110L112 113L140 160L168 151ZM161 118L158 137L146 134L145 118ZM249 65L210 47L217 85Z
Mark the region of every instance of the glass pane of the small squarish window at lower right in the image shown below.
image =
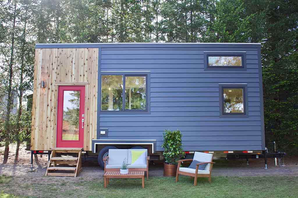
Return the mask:
M243 88L223 88L224 113L244 113Z

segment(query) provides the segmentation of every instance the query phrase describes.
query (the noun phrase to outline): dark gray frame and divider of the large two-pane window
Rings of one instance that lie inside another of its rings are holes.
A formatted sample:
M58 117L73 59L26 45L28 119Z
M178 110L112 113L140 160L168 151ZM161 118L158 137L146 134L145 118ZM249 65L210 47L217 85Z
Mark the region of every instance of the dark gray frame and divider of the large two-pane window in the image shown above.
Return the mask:
M123 76L123 91L122 91L122 110L119 111L110 111L110 110L102 110L101 109L101 81L102 76L106 75L115 75L115 76ZM145 76L146 77L146 108L145 110L141 109L125 109L125 76ZM100 98L99 98L99 107L101 114L149 114L150 113L150 72L149 71L142 71L142 72L100 72L99 76L99 85L100 86Z

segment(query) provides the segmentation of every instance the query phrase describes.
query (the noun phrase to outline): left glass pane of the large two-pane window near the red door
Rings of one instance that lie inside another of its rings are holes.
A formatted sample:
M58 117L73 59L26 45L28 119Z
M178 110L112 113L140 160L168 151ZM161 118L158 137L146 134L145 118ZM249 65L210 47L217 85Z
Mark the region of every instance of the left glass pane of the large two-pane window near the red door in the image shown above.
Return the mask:
M101 77L101 110L122 111L123 76Z

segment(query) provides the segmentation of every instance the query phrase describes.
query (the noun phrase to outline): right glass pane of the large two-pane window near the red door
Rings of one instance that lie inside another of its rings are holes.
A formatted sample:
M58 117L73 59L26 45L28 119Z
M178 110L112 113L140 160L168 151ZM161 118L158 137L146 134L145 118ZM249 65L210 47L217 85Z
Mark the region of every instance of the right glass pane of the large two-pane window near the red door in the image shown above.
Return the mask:
M146 77L126 76L125 77L125 109L145 110L146 109Z

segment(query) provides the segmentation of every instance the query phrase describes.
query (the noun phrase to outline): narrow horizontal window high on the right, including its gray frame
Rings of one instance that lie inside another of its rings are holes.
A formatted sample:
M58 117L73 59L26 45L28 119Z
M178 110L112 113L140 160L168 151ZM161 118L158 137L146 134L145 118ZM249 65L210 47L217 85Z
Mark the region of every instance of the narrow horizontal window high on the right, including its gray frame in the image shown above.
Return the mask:
M246 70L246 52L204 52L205 70Z

